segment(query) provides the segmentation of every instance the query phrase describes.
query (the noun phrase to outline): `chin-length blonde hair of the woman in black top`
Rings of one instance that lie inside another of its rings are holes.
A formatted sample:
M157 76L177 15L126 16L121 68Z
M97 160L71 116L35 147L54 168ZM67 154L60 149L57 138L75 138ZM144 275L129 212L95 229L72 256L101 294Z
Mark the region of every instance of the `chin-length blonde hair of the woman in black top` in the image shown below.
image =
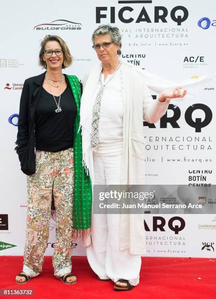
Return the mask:
M56 41L61 45L61 48L63 50L63 55L64 55L62 68L70 66L70 64L72 64L73 62L73 57L71 56L70 50L68 49L68 46L66 45L65 41L57 35L48 35L48 34L43 38L41 42L41 50L39 53L39 65L41 65L42 68L46 68L46 63L43 61L43 55L44 55L45 45L50 41Z

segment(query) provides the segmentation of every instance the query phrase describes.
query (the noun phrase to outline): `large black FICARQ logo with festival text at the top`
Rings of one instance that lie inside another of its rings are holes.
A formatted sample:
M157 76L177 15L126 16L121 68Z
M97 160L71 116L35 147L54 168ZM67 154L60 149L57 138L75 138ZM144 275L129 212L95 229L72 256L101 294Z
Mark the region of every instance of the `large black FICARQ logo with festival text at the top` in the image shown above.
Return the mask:
M115 6L95 8L96 23L120 22L124 43L131 47L188 46L189 29L183 26L188 17L185 6L170 9L153 1L116 1Z

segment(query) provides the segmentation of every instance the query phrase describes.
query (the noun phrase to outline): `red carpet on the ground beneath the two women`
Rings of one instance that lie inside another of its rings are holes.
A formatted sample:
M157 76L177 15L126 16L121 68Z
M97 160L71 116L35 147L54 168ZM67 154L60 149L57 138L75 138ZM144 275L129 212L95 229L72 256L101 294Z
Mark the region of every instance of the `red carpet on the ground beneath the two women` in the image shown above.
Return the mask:
M78 282L74 285L63 284L53 277L50 256L45 257L42 275L18 285L14 279L22 270L22 257L0 256L0 289L33 289L34 295L30 298L34 299L216 299L214 259L145 257L140 284L128 292L113 291L111 281L99 281L85 256L73 256L72 263L73 273L78 277ZM11 296L0 298L8 297Z

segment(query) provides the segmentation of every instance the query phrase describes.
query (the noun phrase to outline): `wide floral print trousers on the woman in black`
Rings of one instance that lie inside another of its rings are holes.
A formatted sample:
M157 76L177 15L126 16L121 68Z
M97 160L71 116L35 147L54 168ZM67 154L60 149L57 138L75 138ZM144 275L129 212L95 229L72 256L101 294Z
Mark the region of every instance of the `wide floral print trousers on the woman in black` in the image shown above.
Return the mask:
M27 176L27 191L23 272L30 277L38 276L42 272L53 199L56 217L54 275L61 277L70 273L74 193L73 149L58 152L36 150L36 172Z

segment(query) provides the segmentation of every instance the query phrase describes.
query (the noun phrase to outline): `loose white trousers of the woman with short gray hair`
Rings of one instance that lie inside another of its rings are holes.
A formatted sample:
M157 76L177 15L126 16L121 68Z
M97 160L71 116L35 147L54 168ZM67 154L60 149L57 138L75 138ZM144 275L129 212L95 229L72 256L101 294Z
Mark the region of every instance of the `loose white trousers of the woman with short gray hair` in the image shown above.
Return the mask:
M122 155L93 155L95 185L119 185ZM120 251L121 214L93 214L91 244L86 248L92 270L101 279L127 279L131 285L139 283L141 256Z

